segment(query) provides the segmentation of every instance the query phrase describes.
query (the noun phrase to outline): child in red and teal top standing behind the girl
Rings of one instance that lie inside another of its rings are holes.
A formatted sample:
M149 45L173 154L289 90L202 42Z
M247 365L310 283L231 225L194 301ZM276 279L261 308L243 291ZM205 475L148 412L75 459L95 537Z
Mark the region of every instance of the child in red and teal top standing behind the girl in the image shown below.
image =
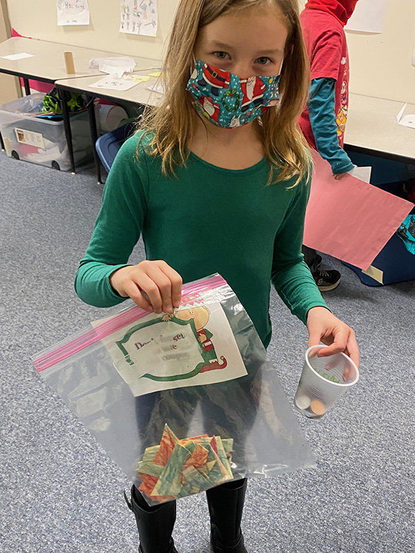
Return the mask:
M311 64L311 91L299 124L308 144L342 178L355 166L343 149L349 109L349 54L343 27L358 0L308 0L300 15ZM303 246L304 261L320 291L334 290L340 272L320 269L322 257Z

